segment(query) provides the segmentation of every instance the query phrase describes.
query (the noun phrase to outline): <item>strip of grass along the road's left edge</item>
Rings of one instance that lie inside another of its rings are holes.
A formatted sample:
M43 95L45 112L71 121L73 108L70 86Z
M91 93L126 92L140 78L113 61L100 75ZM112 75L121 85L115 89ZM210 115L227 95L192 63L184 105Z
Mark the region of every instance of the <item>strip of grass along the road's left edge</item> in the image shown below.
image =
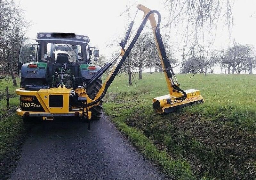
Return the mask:
M19 80L17 78L17 83ZM6 86L9 87L9 107L6 105ZM19 104L19 97L15 94L16 88L12 86L12 81L9 79L0 83L0 179L9 178L29 128L15 114Z

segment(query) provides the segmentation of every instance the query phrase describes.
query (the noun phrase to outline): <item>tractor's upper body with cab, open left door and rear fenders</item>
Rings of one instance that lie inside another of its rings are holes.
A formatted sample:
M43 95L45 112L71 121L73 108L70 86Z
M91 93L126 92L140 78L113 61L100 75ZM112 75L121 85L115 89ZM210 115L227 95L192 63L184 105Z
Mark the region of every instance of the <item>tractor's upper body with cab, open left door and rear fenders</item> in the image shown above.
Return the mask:
M71 88L75 78L91 79L101 68L93 65L99 59L99 50L89 46L88 36L39 32L36 37L36 40L23 38L21 42L18 62L21 88L56 87L60 82Z

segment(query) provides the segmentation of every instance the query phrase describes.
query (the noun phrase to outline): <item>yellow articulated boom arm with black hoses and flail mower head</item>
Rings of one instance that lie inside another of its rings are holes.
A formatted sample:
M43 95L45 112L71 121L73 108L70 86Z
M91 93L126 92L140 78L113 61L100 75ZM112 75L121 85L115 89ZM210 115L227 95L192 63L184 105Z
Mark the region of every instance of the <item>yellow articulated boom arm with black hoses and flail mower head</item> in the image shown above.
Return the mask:
M204 102L204 99L200 95L199 90L190 89L190 90L184 91L178 87L180 84L178 83L178 81L175 77L175 74L172 70L172 66L170 64L170 61L168 60L167 55L166 55L163 40L160 35L160 28L159 28L160 21L161 21L160 13L158 11L154 11L154 10L152 11L141 4L139 4L137 6L137 8L140 11L144 12L144 17L143 17L142 23L139 26L138 30L135 32L134 36L130 39L128 44L125 47L122 47L120 54L114 58L114 60L116 60L119 57L118 60L116 61L116 64L114 65L111 73L109 74L106 82L103 84L102 88L99 90L99 92L96 95L93 102L89 103L88 106L93 106L94 104L97 104L104 97L109 85L114 80L116 74L118 73L119 69L121 68L126 57L129 55L132 47L134 46L136 40L139 38L140 33L143 30L143 28L146 25L148 20L150 21L150 24L152 27L153 35L154 35L154 38L156 41L158 55L161 60L164 76L165 76L166 83L167 83L167 88L169 90L169 95L156 97L153 99L153 108L156 110L156 112L162 114L162 113L169 113L169 112L175 111L176 108L180 105ZM156 13L158 15L158 23L157 24L156 24L156 19L155 19L154 13ZM132 22L132 24L133 24L133 22ZM129 29L130 29L130 27L129 27ZM128 30L128 32L126 34L127 37L129 36L129 33L130 32ZM106 67L103 67L102 72L98 72L97 73L98 75L95 75L95 77L92 78L91 82L93 82L94 79L101 76L104 72L104 68L110 67L110 65L111 65L111 63L106 65ZM89 82L89 84L87 84L87 86L89 86L89 85L90 85L90 82ZM85 87L85 89L86 89L86 87Z

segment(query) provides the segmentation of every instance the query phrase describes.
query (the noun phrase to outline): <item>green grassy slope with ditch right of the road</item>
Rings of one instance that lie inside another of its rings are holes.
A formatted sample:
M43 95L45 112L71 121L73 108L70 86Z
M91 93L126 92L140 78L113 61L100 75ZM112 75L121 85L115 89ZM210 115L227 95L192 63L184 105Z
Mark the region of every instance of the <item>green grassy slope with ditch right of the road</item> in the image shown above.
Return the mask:
M143 79L133 82L133 86L128 85L126 77L116 77L105 97L104 110L167 174L254 179L256 76L190 76L177 75L180 87L200 90L204 104L168 115L156 114L152 98L168 94L164 74L143 73ZM153 142L157 153L147 149L139 134L134 136L138 132L143 133L142 139L145 135ZM161 158L156 156L159 153Z

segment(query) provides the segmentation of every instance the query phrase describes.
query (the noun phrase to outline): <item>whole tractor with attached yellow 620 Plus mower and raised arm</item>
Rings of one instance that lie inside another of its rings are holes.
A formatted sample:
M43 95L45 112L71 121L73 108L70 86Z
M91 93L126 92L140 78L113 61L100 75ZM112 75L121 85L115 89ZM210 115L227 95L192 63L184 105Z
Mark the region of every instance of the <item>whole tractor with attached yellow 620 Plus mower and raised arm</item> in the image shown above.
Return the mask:
M163 114L173 112L183 105L203 103L204 99L199 90L184 91L179 88L180 84L166 56L160 35L160 13L141 4L137 8L144 12L138 30L128 41L133 26L132 21L124 40L120 43L120 54L102 68L92 64L91 58L94 55L94 61L97 61L99 51L89 46L90 40L87 36L42 32L37 34L36 42L31 44L28 41L32 42L32 39L24 38L18 64L21 88L16 90L20 95L20 108L17 109L17 114L24 119L29 117L53 119L56 116L77 116L89 122L90 119L100 119L102 98L148 20L152 26L169 90L168 95L153 99L154 110ZM158 16L157 24L155 14ZM93 53L91 49L94 50ZM102 85L101 76L112 64L114 66Z

